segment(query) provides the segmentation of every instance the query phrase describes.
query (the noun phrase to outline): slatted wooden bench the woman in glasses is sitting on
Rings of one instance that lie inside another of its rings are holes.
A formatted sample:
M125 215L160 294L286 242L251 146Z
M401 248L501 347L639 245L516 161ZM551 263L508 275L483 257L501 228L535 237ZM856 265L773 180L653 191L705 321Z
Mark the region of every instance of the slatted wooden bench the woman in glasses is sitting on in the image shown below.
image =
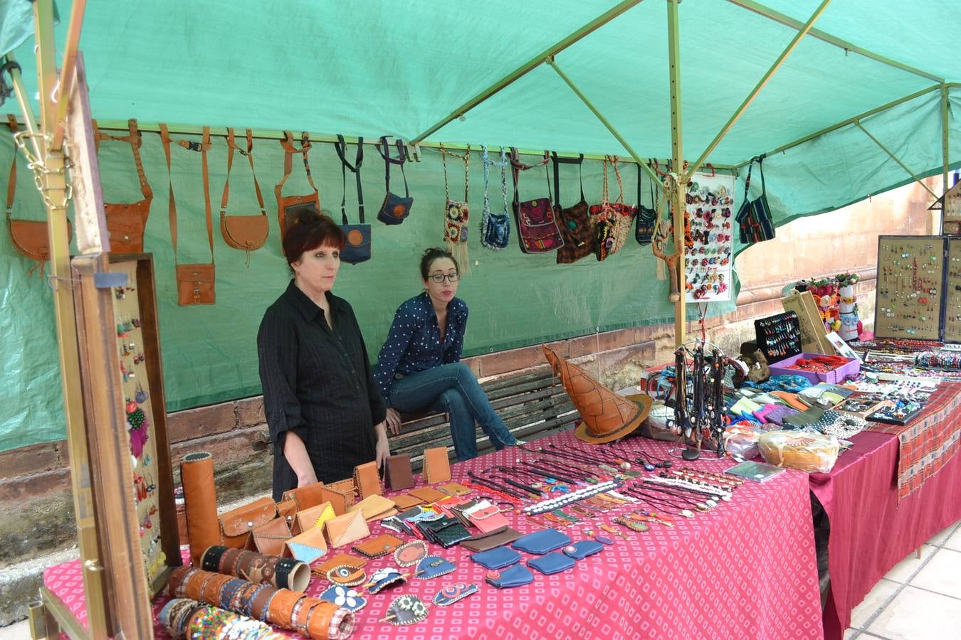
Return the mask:
M480 385L491 406L518 439L573 424L579 418L567 391L551 367L538 367L529 373L508 375ZM447 414L401 414L401 433L390 438L392 454L408 453L414 471L421 468L424 449L446 446L454 457L451 423ZM493 450L487 435L477 430L478 453Z

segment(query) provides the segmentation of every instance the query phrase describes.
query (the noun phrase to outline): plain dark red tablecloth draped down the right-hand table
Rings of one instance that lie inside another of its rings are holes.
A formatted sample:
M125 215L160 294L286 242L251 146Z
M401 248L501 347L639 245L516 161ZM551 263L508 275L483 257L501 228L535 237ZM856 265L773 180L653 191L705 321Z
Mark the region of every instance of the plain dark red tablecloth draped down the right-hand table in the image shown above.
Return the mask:
M864 432L851 441L854 446L829 474L810 478L830 522L825 605L830 639L843 636L850 610L893 566L961 518L961 456L949 458L899 500L898 437Z

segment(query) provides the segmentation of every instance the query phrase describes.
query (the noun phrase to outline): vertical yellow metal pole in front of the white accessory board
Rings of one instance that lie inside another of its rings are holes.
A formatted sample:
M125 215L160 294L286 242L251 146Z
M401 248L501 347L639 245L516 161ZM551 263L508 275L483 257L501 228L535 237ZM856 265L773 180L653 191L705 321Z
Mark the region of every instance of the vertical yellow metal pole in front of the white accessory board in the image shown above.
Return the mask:
M687 249L684 246L684 207L687 177L684 175L684 152L681 135L680 114L680 24L678 22L680 0L667 1L668 59L671 74L671 152L673 170L677 176L672 185L670 209L674 216L674 247L678 251L678 289L680 297L674 303L674 344L683 344L687 333L687 276L684 272ZM670 265L668 265L670 269Z

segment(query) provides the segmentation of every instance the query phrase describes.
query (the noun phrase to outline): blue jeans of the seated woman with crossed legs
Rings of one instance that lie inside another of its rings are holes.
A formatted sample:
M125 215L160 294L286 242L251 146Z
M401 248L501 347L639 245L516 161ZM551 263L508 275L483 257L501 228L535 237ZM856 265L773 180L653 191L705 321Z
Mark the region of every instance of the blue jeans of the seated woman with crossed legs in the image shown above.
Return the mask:
M477 427L480 424L494 448L516 444L500 415L490 406L474 372L462 363L433 367L395 380L390 387L390 405L398 411L446 412L451 416L451 436L458 461L478 456Z

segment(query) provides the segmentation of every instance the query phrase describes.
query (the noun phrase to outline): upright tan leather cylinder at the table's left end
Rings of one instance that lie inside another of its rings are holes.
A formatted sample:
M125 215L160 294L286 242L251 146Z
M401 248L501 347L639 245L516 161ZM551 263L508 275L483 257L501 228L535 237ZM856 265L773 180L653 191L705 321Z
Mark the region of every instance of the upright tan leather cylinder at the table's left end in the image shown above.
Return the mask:
M190 560L199 567L204 552L221 544L217 491L213 486L213 456L206 451L187 454L181 462L181 482L184 484Z

